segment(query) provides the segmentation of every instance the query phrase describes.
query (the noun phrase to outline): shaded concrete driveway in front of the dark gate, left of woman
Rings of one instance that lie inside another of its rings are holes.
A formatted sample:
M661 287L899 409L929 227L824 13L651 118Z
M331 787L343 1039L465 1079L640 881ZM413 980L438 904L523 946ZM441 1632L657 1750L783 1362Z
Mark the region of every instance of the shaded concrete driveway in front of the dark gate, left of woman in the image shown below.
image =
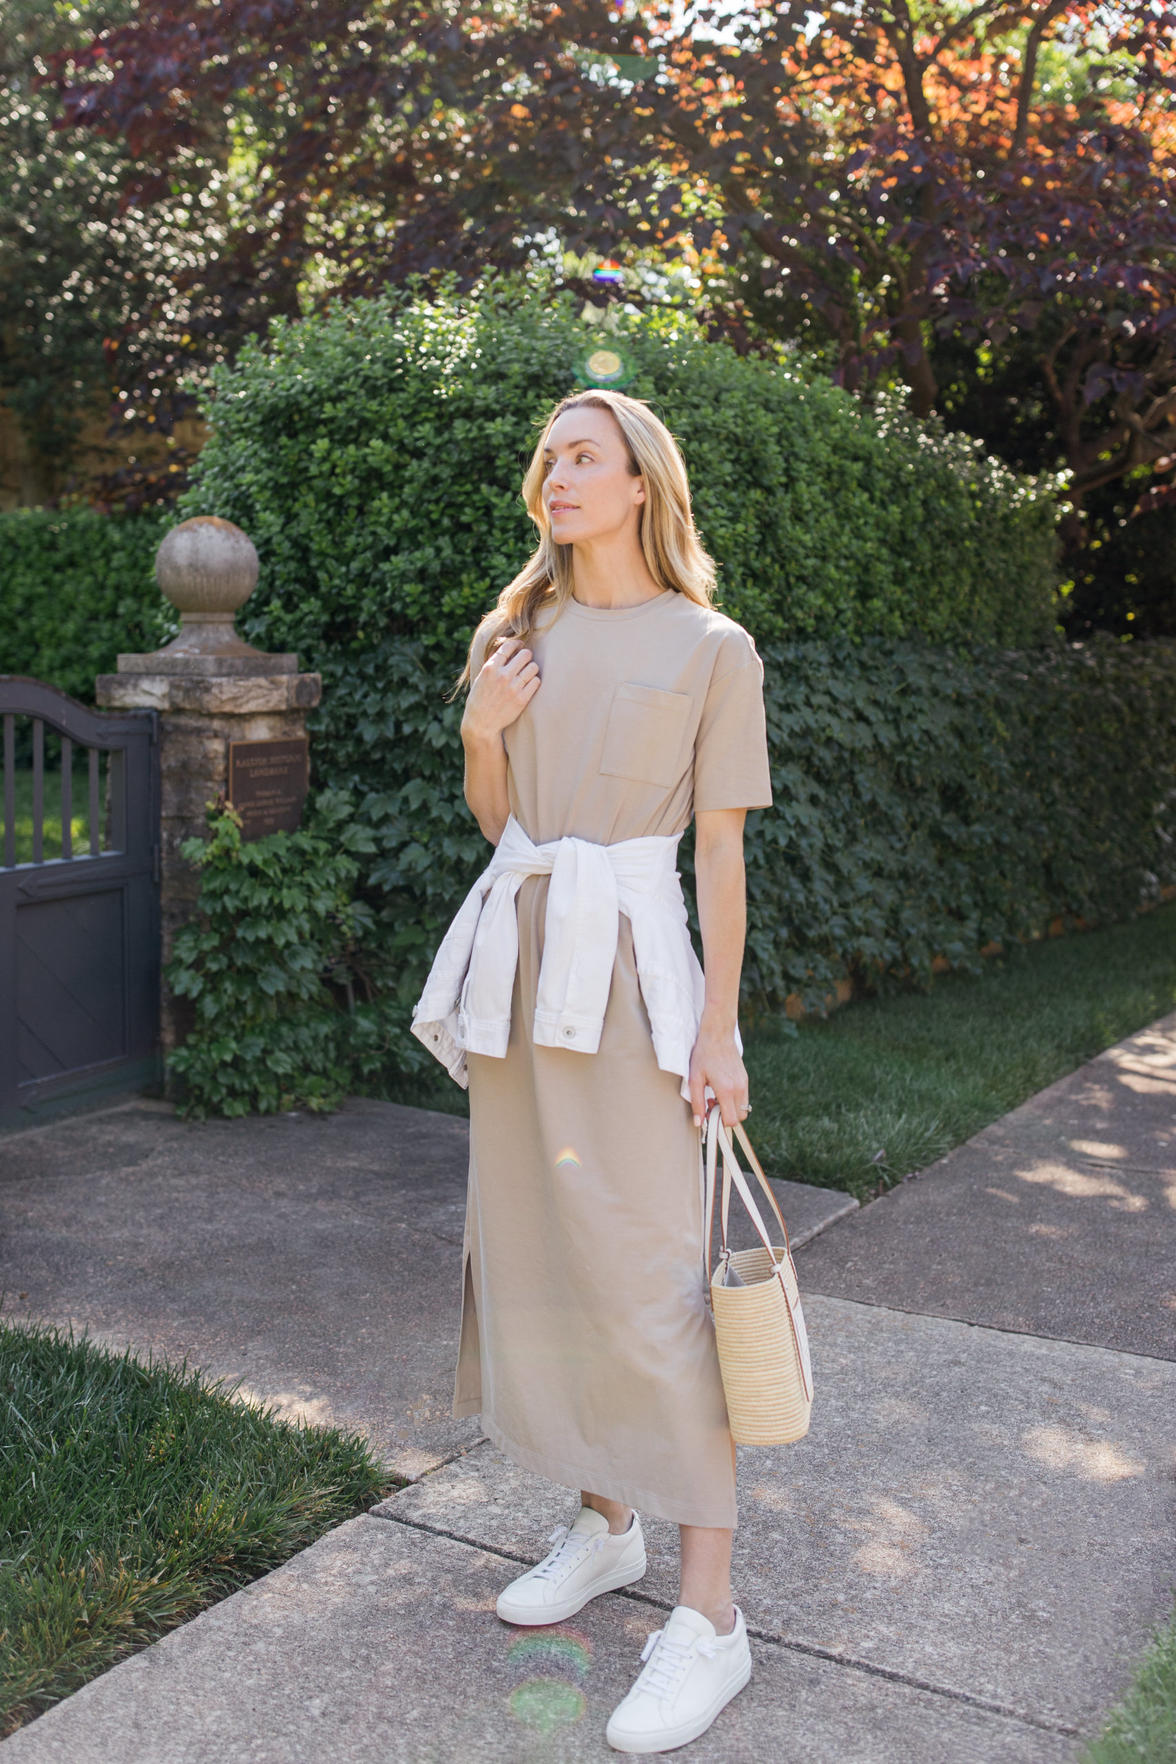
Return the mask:
M0 1138L0 1293L361 1427L416 1476L480 1438L450 1416L467 1166L464 1120L391 1102L231 1122L136 1102L37 1127ZM800 1244L855 1210L776 1187Z

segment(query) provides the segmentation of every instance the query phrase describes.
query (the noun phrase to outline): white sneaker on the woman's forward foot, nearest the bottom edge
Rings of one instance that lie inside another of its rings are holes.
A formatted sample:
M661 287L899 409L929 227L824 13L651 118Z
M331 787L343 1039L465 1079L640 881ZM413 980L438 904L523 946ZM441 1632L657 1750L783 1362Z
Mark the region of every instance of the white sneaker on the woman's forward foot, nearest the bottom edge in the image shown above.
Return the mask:
M705 1734L719 1709L751 1678L751 1648L742 1611L735 1628L716 1633L689 1605L675 1605L642 1653L645 1667L607 1729L614 1752L672 1752Z

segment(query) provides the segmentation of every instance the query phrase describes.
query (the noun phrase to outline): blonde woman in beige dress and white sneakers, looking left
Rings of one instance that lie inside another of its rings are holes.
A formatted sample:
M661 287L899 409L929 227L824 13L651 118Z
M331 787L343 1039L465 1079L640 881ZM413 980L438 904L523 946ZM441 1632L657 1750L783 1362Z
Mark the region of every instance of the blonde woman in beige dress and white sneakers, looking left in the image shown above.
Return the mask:
M457 1415L580 1489L508 1623L561 1623L645 1570L635 1508L677 1521L679 1605L614 1711L621 1752L705 1732L746 1685L735 1464L702 1279L707 1090L748 1113L735 1021L742 826L770 804L763 670L712 610L686 469L617 392L548 418L540 545L474 635L465 801L497 848L414 1032L469 1081ZM674 870L696 824L705 983Z

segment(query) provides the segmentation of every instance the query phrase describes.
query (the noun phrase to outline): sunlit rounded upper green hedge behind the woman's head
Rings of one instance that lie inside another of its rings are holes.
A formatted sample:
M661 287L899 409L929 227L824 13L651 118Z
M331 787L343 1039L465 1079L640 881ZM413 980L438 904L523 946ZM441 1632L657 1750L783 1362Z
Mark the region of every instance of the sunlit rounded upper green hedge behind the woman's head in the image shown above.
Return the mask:
M938 423L744 360L675 314L631 318L621 337L628 390L686 453L725 610L756 640L1049 633L1049 483ZM594 339L573 303L502 286L469 305L354 302L247 344L217 376L180 503L257 545L245 635L309 667L413 635L460 665L531 550L518 487L536 422Z

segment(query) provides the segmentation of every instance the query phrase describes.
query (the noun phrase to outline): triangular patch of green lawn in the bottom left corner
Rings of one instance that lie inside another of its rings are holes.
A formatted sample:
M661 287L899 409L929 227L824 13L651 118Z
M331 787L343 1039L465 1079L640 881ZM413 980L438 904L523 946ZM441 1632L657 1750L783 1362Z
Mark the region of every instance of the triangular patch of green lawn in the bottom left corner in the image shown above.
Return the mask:
M0 1736L372 1506L358 1434L0 1321Z

